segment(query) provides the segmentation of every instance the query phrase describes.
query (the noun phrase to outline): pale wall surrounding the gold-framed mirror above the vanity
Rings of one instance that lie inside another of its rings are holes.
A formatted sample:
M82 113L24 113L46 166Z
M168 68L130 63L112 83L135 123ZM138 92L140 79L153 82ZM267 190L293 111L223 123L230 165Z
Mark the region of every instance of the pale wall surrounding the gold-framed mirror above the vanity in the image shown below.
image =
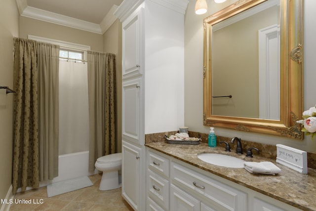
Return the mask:
M196 15L194 12L196 0L190 0L185 16L185 125L192 131L208 133L209 128L203 126L203 18L219 11L220 9L234 3L236 0L227 0L224 3L214 3L213 0L206 0L208 12L203 15ZM303 1L303 54L304 54L304 110L316 104L316 1ZM308 152L316 152L316 140L311 136L305 136L303 141L274 135L242 132L224 128L215 128L215 133L226 137L240 137L243 140L261 142L267 144L284 144Z

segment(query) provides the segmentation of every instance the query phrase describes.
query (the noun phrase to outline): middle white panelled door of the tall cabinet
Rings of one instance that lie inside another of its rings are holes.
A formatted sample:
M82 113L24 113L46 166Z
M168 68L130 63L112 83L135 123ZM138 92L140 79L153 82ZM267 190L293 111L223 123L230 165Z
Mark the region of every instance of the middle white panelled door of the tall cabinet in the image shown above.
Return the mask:
M142 79L122 83L122 139L143 145Z

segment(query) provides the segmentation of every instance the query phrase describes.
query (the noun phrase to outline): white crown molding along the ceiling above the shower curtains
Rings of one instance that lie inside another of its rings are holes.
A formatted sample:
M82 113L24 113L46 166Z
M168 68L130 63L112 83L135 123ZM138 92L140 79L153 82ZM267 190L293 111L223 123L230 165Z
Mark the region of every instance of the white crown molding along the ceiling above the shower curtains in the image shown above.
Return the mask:
M115 22L117 17L113 14L118 8L113 5L109 13L104 17L100 24L91 23L88 21L79 20L66 15L49 12L27 5L27 0L16 0L19 13L23 17L33 18L40 21L45 21L53 24L67 26L87 32L103 35Z

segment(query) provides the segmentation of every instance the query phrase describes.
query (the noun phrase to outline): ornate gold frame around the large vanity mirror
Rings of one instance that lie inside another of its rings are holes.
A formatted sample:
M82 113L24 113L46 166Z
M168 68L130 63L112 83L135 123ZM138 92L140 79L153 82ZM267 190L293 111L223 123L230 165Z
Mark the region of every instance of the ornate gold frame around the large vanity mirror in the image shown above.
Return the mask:
M238 0L203 20L203 125L302 140L296 121L303 111L303 0L280 0L280 120L212 115L212 26L264 1Z

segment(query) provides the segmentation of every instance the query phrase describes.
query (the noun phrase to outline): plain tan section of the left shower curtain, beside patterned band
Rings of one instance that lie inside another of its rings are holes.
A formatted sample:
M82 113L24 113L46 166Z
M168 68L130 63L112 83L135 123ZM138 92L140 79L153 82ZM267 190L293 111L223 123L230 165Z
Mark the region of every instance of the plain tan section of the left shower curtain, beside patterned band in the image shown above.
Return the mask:
M39 44L38 71L39 173L40 181L45 181L58 176L58 45Z

